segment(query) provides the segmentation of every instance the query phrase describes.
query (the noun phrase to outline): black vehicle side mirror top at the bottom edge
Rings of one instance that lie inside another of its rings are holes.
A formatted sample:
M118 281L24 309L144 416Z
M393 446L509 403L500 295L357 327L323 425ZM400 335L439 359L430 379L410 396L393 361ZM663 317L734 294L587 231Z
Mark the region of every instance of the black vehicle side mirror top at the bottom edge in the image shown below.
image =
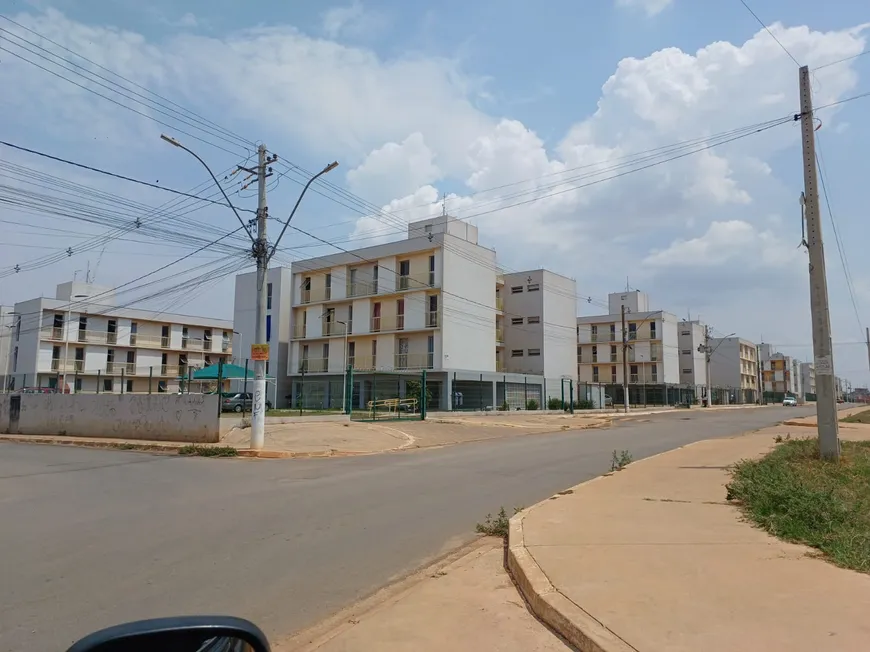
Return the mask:
M88 634L67 652L269 652L254 623L225 616L139 620Z

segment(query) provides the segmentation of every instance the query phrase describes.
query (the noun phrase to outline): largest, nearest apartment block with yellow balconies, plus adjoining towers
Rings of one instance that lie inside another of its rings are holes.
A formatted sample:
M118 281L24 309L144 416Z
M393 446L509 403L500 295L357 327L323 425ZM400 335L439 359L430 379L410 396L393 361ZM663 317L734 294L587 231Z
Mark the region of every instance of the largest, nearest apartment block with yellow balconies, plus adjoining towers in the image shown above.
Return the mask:
M286 371L274 361L289 390L278 405L340 407L348 367L355 408L403 397L424 369L432 409L542 404L559 394L565 369L576 380L573 362L557 359L566 346L574 356L573 281L544 270L504 275L477 227L461 220L413 222L403 240L271 273L267 326L279 351L270 353L281 355L285 329L288 340ZM237 281L235 305L245 342L254 336L247 284ZM551 336L557 330L563 340Z

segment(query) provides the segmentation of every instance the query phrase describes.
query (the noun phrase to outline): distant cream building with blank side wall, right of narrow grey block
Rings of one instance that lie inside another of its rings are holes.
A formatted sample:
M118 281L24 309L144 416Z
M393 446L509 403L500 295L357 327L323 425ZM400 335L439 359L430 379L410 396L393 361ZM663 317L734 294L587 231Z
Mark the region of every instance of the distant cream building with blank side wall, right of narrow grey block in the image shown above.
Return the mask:
M758 400L758 349L742 337L710 338L710 384L722 397L714 402L755 403Z

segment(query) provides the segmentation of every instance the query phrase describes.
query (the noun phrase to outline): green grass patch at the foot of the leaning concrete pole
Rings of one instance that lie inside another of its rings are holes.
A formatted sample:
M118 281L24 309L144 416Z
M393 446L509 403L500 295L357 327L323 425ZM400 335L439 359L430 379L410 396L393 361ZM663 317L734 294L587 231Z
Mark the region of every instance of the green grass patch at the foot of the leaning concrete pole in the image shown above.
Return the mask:
M783 441L739 462L727 499L770 534L821 551L838 566L870 573L870 442L841 442L840 462L817 439Z

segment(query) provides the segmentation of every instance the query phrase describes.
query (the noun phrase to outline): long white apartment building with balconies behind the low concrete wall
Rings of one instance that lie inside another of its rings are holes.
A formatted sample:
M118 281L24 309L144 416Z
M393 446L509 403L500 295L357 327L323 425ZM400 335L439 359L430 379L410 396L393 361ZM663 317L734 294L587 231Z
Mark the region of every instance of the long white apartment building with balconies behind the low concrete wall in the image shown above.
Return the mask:
M14 312L13 389L175 392L192 369L232 356L232 322L118 307L93 284L62 283Z

